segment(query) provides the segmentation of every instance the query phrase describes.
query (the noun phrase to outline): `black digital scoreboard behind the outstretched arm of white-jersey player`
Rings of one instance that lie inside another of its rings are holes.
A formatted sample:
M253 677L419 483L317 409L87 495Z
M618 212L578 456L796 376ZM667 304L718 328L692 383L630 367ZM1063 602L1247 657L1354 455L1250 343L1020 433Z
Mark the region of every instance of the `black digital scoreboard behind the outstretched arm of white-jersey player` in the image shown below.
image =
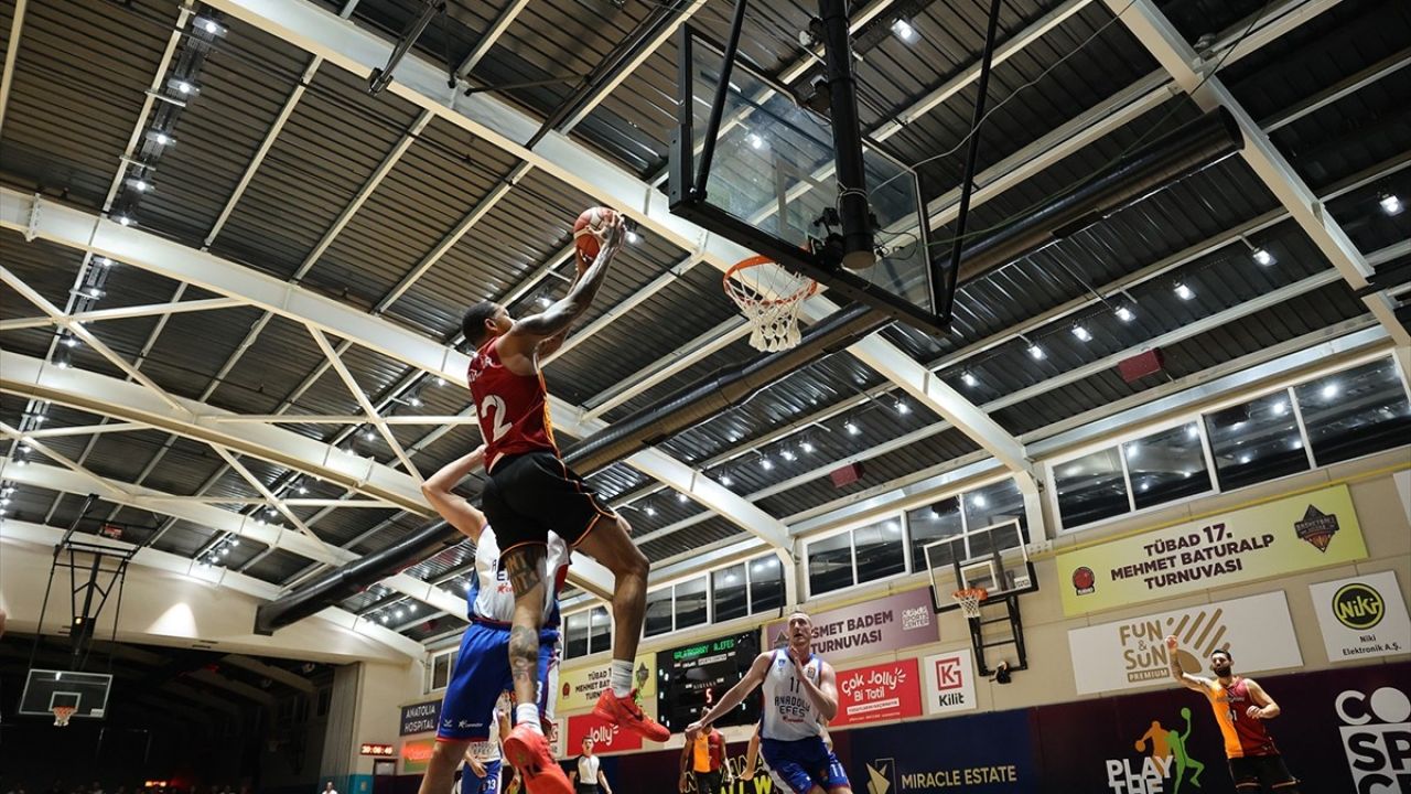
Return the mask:
M656 654L658 722L673 733L686 730L749 672L756 656L758 632L703 640ZM753 692L715 725L752 725L758 721L759 692Z

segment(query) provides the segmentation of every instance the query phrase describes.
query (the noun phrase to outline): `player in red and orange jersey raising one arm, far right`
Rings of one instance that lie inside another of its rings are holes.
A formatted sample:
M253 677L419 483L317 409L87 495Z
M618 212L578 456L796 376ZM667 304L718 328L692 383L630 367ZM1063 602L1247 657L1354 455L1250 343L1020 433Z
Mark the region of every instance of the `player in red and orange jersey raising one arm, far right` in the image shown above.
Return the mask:
M1284 766L1284 756L1278 754L1278 747L1274 746L1274 737L1264 728L1266 719L1280 715L1274 698L1270 698L1253 678L1230 672L1233 657L1225 648L1211 654L1211 672L1215 674L1211 680L1181 670L1181 657L1177 653L1181 643L1174 636L1165 639L1165 647L1171 657L1171 677L1211 701L1215 722L1225 737L1225 756L1230 763L1235 791L1298 794L1298 778L1290 774Z

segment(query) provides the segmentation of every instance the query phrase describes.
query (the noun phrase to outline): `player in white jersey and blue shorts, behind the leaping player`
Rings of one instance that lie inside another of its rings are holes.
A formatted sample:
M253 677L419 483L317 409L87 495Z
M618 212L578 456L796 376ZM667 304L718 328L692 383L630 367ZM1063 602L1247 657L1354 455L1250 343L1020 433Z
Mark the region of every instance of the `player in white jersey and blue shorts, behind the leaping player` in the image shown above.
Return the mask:
M466 593L470 626L461 637L460 654L446 685L436 749L426 764L419 794L450 794L461 756L474 743L491 742L491 729L498 722L495 701L514 688L509 675L514 588L499 565L499 545L494 530L485 523L485 514L452 490L471 469L483 465L484 458L485 449L481 446L452 461L422 483L422 494L432 507L476 544L476 571ZM538 699L539 713L552 721L552 694L559 677L559 589L569 574L569 547L560 537L549 534L547 554L539 564L543 567L540 578L549 586L545 588L543 629L539 632ZM569 778L557 764L521 771L528 776L526 780L556 778L556 783L562 783L562 790L569 790ZM488 791L497 790L498 787Z

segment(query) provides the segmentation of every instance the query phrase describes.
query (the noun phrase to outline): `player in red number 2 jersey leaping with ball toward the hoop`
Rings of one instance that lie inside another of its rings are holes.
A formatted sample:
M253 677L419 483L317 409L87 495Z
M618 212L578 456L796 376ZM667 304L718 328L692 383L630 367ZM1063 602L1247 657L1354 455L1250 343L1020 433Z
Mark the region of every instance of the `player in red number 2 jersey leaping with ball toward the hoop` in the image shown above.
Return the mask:
M632 698L632 660L646 613L646 557L628 537L626 521L563 462L553 439L549 403L539 360L559 348L569 326L587 309L607 275L608 263L626 235L621 216L610 219L598 237L597 259L581 268L569 294L540 314L514 319L505 307L476 304L461 321L466 340L476 346L470 360L470 393L476 400L480 431L485 439L485 516L499 537L501 559L515 589L514 626L509 634L509 668L521 704L515 728L505 740L505 756L528 770L531 791L557 791L547 767L553 764L540 733L535 698L535 660L539 653L538 605L545 582L539 561L549 530L605 565L615 576L612 591L614 643L610 688L594 713L636 730L655 742L670 732L646 718ZM546 770L535 777L538 769ZM539 783L536 787L535 784Z

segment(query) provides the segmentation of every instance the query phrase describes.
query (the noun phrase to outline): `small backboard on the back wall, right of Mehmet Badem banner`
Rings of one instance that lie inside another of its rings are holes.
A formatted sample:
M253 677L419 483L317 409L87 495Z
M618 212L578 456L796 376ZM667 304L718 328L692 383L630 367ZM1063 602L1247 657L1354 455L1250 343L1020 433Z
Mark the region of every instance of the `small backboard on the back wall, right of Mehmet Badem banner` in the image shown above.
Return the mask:
M935 612L958 609L951 593L985 588L986 602L1038 589L1029 544L1017 520L941 538L924 547Z

